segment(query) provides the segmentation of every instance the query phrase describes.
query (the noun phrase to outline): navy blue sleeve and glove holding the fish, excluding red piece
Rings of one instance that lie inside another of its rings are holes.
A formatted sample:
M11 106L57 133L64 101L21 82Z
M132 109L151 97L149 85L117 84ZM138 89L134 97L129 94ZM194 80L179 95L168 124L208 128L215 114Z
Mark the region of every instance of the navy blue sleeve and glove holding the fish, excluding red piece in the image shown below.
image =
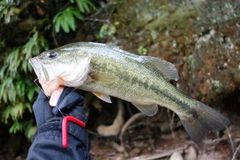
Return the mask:
M27 160L88 160L90 159L89 139L81 126L68 122L68 146L62 147L62 119L73 116L87 121L83 97L73 88L64 88L58 104L52 108L48 98L40 92L33 105L38 129L33 137Z

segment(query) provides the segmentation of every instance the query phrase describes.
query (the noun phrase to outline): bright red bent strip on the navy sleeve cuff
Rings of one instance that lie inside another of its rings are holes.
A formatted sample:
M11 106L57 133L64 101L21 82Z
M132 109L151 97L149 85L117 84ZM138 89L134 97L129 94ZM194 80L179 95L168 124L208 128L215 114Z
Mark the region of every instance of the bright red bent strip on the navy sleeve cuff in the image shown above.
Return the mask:
M83 121L81 121L75 117L65 116L62 121L62 146L63 146L63 148L67 148L67 146L68 146L68 126L67 126L68 121L74 122L81 127L86 126L86 124Z

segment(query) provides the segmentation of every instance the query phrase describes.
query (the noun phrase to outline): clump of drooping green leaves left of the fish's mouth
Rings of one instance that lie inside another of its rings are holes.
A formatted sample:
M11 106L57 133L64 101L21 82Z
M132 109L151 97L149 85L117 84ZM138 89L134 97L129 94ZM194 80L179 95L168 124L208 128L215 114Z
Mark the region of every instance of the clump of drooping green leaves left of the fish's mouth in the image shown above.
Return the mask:
M12 2L12 0L10 1ZM3 0L0 0L1 2ZM12 17L10 18L12 19ZM32 31L35 30L29 31L26 36ZM2 64L0 67L0 107L2 107L2 122L13 123L9 132L23 131L26 136L30 137L34 132L33 121L23 121L23 115L32 112L31 105L37 97L39 88L31 80L34 73L28 59L48 49L48 42L38 31L34 32L32 37L24 39L28 39L28 41L15 47L14 44L11 44L11 47L7 46L9 44L5 46L4 40L0 41L2 54L0 59ZM24 119L27 118L24 117Z

